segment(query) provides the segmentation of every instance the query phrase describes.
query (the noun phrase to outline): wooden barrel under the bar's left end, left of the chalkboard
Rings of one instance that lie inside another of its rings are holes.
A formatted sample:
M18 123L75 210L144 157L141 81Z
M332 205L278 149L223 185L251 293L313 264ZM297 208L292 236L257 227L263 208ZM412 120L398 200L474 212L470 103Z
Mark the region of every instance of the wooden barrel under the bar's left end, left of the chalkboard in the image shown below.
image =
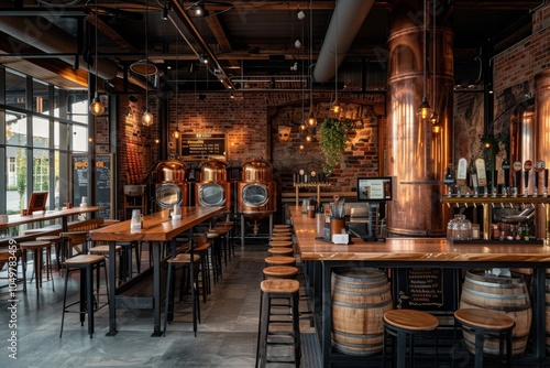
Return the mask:
M370 268L336 269L332 282L332 346L348 355L382 351L384 313L393 309L384 271Z

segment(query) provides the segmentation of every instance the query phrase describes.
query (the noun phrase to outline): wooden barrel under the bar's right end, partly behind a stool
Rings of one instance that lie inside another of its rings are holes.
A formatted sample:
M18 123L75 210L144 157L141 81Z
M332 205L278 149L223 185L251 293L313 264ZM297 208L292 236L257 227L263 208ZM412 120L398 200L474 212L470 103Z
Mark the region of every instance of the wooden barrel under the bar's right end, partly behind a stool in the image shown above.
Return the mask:
M522 274L512 272L510 277L495 277L486 274L484 270L468 271L462 285L460 307L484 309L507 314L516 322L512 355L517 357L524 354L532 312ZM466 348L473 354L475 342L473 334L465 333L464 340ZM498 355L498 339L485 339L484 351L488 355Z

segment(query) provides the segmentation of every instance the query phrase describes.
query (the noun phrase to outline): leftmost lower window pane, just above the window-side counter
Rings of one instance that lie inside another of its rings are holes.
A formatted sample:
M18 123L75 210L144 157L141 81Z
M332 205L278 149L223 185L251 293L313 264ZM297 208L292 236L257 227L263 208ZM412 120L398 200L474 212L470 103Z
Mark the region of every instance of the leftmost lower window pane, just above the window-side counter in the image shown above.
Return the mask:
M26 208L26 149L8 148L6 159L9 170L7 213L19 214L21 208ZM12 172L10 167L13 169Z

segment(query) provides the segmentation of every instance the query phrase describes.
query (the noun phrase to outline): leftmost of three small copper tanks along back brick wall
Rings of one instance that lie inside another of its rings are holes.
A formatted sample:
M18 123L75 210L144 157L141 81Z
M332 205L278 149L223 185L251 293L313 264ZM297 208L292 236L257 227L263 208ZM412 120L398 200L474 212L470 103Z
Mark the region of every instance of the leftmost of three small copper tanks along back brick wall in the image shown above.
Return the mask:
M179 160L166 160L153 170L156 209L187 206L186 164Z

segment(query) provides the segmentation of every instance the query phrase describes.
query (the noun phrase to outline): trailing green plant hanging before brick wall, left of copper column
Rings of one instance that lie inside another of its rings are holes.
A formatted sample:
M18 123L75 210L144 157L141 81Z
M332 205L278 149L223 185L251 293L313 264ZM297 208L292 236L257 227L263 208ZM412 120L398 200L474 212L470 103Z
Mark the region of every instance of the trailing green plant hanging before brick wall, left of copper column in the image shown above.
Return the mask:
M321 125L319 130L319 144L324 154L322 171L330 175L334 166L342 159L348 141L348 131L352 129L353 121L328 118Z

